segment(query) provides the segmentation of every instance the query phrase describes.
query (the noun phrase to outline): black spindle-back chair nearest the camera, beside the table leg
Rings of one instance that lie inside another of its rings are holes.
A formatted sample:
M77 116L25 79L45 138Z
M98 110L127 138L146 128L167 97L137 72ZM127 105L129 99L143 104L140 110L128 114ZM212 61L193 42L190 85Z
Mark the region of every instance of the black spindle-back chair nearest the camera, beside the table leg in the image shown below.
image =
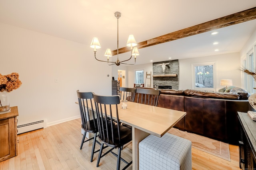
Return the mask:
M99 125L98 139L101 141L100 152L98 155L97 167L100 163L100 158L111 152L117 157L116 169L120 170L120 160L127 165L126 169L132 164L121 158L121 150L123 146L132 141L132 129L121 125L118 117L118 104L120 104L119 96L100 96L92 93L95 103L96 115ZM108 117L108 119L105 119ZM112 147L102 155L104 145ZM112 152L113 149L118 148L118 154Z

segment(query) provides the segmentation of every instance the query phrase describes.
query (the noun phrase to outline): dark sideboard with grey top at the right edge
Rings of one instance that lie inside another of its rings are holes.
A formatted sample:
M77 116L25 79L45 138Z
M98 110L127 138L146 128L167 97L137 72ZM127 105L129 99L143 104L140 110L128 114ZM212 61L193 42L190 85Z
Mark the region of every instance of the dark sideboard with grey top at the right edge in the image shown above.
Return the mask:
M239 162L242 170L256 169L256 121L238 112L240 121Z

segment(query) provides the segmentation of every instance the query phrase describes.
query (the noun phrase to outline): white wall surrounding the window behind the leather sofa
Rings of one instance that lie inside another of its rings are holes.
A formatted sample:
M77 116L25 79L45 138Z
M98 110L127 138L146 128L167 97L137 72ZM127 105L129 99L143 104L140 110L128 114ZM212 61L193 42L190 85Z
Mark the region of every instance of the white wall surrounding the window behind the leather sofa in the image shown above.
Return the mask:
M220 86L221 79L232 79L233 86L241 87L240 55L239 53L228 53L208 57L197 57L179 60L180 63L180 88L182 90L192 89L191 64L216 61L216 91L223 88Z

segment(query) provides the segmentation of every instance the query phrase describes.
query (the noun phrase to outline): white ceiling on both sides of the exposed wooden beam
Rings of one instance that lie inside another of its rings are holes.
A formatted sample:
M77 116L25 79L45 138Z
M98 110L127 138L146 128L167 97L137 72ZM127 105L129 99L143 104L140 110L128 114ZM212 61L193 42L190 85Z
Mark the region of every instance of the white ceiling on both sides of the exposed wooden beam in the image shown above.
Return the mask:
M121 48L129 34L141 42L255 6L256 0L1 0L0 22L82 43L88 49L92 37L98 37L102 48L97 56L103 56L106 48L117 48L116 11L122 13ZM215 36L201 33L139 49L136 64L238 52L255 29L252 20L221 28ZM214 41L219 44L212 45Z

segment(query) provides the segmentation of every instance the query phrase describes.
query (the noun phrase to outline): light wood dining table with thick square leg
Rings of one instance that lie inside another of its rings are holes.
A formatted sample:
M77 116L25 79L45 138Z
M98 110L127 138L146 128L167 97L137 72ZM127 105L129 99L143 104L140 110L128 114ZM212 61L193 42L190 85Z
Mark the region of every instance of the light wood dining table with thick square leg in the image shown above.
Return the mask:
M120 122L132 127L132 169L138 170L139 142L150 134L162 137L186 112L128 102L126 109L122 109L121 103L118 104L118 115Z

